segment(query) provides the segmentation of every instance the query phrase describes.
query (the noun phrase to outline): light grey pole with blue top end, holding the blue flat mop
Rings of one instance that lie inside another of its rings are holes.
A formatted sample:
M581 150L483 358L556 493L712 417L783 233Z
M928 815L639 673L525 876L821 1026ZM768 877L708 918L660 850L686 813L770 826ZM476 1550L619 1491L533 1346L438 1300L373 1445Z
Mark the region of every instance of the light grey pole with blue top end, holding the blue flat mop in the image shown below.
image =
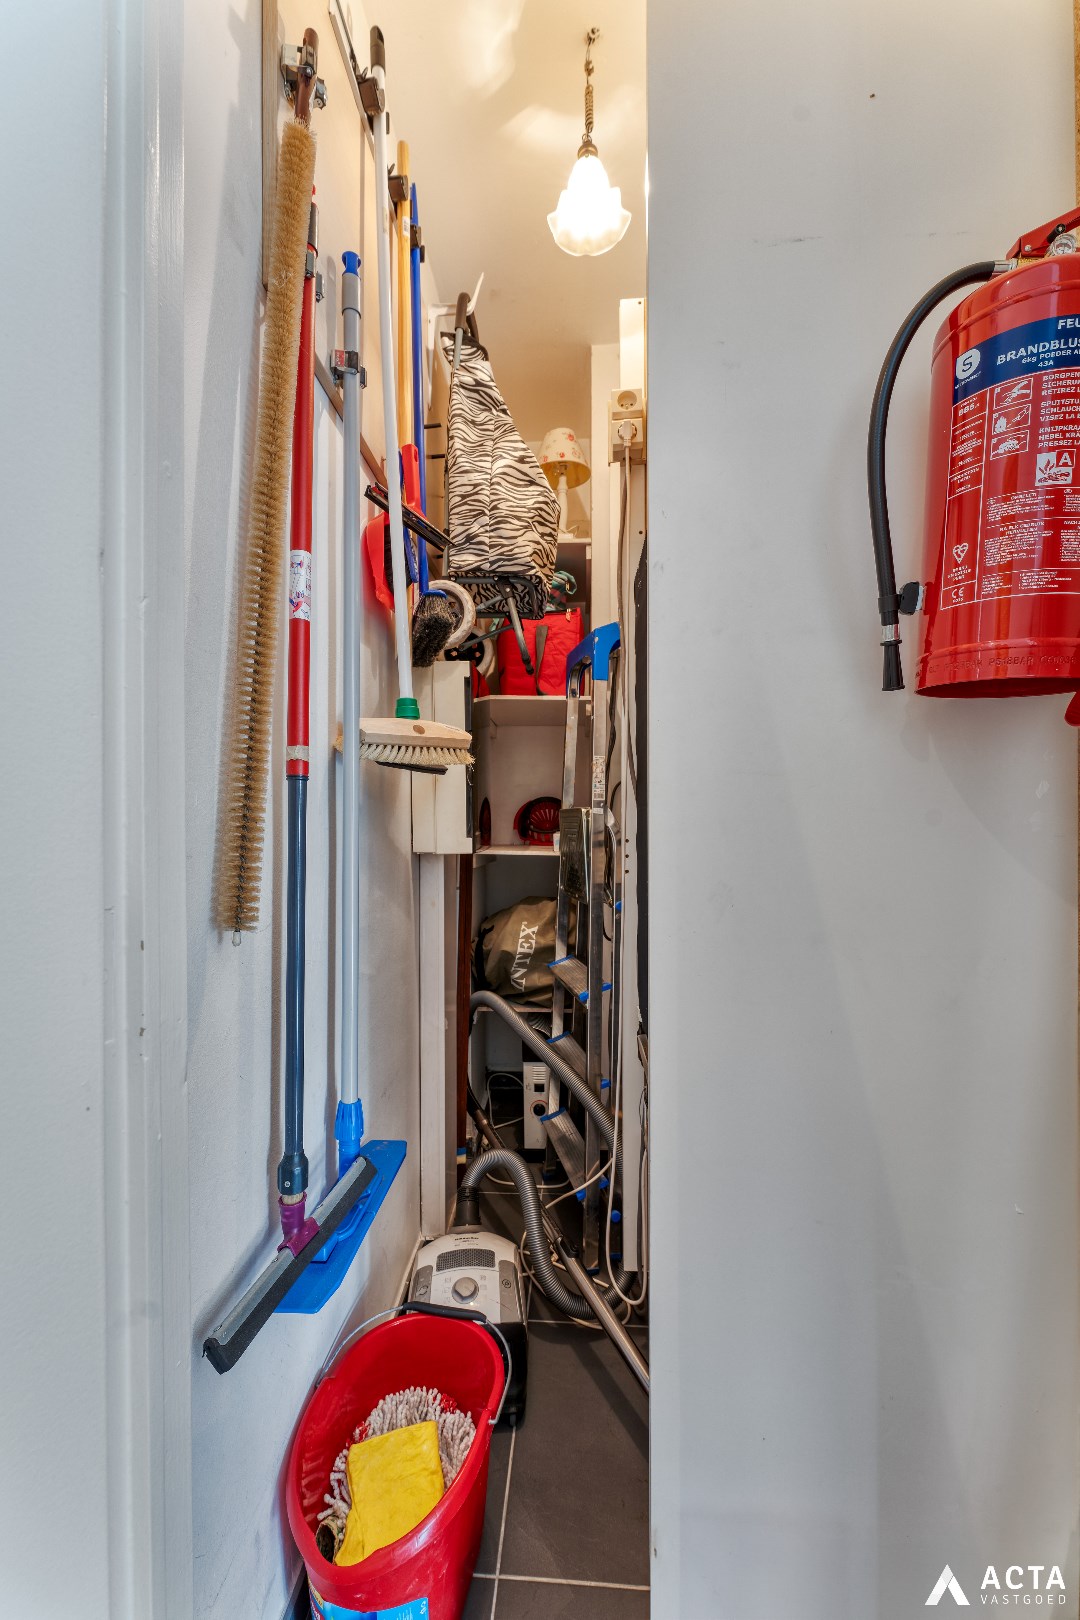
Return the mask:
M359 353L359 277L342 275L345 348ZM342 377L343 698L342 698L342 1063L338 1097L359 1095L359 374Z

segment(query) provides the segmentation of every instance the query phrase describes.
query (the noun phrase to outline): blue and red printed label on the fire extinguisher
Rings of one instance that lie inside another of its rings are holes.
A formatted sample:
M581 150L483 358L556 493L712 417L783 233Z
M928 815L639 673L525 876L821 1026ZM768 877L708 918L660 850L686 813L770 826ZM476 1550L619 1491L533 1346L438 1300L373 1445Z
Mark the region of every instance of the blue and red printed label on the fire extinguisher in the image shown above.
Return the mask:
M1080 316L965 350L952 399L939 609L1080 595Z

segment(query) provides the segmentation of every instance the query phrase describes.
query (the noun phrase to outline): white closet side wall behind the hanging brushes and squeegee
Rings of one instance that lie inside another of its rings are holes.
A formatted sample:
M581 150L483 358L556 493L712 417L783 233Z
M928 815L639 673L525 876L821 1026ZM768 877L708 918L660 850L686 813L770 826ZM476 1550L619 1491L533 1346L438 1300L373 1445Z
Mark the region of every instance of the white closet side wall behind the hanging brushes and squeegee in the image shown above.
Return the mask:
M363 19L358 19L363 23ZM325 26L324 26L325 24ZM210 925L222 718L235 622L238 533L257 389L259 5L186 0L186 489L188 489L188 925L193 1332L204 1332L277 1241L279 1040L283 964L283 760L259 932L235 949ZM329 19L322 50L335 49ZM366 29L359 36L366 42ZM207 50L207 39L214 49ZM316 175L317 180L317 175ZM340 716L340 431L319 389L316 441L313 771L308 880L308 1092L311 1189L334 1165L337 826L332 740ZM364 410L379 411L376 390ZM283 643L282 643L283 645ZM390 640L369 616L364 711L392 713ZM283 716L283 708L282 708ZM406 1137L408 1158L338 1298L314 1319L275 1317L235 1371L193 1371L194 1609L199 1620L277 1620L296 1557L282 1505L293 1427L345 1317L390 1302L419 1231L416 894L408 778L364 768L361 1097L371 1136ZM269 881L272 878L272 881ZM329 1090L327 1097L327 1074Z

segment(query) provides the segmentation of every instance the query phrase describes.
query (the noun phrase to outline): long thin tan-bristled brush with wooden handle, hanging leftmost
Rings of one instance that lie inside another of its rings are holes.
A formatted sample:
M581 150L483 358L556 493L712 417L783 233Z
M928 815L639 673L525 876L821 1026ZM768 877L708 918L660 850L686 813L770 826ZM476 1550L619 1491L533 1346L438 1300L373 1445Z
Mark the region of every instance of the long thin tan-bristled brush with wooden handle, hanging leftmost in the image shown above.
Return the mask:
M251 512L240 590L236 685L222 797L214 914L220 928L259 923L259 880L270 766L274 674L282 625L285 496L296 394L316 139L309 128L319 36L304 31L295 117L282 131L266 295Z

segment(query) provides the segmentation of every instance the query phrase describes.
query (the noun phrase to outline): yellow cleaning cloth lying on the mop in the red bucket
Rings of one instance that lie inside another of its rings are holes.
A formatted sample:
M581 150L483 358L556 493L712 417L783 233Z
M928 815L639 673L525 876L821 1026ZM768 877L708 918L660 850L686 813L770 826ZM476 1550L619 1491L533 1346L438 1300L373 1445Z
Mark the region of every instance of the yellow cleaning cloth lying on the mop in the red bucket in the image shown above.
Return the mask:
M408 1536L442 1498L439 1426L415 1422L348 1448L353 1505L335 1563L359 1563L398 1536Z

